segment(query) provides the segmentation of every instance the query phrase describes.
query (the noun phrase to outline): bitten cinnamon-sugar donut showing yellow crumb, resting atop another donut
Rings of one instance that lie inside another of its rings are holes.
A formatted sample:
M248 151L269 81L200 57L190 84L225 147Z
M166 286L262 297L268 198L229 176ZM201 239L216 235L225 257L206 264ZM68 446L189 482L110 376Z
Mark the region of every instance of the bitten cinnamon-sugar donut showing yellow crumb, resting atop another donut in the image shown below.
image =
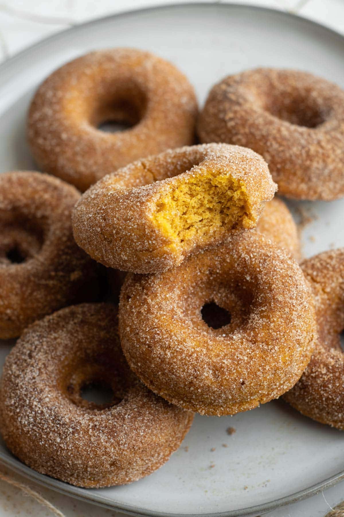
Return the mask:
M74 238L107 267L171 269L256 226L276 185L250 149L208 144L165 151L102 178L73 212Z

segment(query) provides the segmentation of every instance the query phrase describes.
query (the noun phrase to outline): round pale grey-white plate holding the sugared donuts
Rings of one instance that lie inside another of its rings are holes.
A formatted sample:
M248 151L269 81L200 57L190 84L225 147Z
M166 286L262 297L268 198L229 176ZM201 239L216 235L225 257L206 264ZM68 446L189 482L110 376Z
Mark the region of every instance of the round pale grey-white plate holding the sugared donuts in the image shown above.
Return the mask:
M302 18L214 4L120 14L57 34L0 67L1 172L34 168L25 144L25 115L37 84L68 59L118 46L172 60L188 75L201 103L224 75L256 66L308 70L344 87L344 38ZM302 206L318 217L304 231L306 256L344 245L343 201ZM2 344L2 361L8 351ZM226 433L229 426L235 434ZM257 515L344 478L344 434L282 401L232 418L196 416L183 446L156 473L98 490L37 474L2 443L0 459L51 488L137 515Z

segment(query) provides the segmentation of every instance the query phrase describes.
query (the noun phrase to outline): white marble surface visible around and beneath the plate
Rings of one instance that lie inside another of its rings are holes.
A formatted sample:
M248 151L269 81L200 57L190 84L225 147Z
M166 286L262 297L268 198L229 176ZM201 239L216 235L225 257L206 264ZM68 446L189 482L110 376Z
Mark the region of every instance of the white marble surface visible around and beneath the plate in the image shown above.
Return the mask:
M188 0L190 2L190 0ZM192 0L191 0L192 1ZM0 60L24 49L40 39L86 20L128 9L151 5L183 3L181 0L8 0L0 1ZM236 0L275 9L297 12L344 33L344 0ZM297 468L297 465L296 465ZM0 473L6 470L0 467ZM28 483L19 475L18 481L30 485L55 505L65 517L120 517L123 514L101 509L76 499ZM269 517L323 517L331 507L344 499L344 483L310 499L272 511ZM168 509L167 509L168 510ZM0 481L0 517L53 515L27 495ZM337 516L339 517L339 515ZM344 511L341 514L344 517Z

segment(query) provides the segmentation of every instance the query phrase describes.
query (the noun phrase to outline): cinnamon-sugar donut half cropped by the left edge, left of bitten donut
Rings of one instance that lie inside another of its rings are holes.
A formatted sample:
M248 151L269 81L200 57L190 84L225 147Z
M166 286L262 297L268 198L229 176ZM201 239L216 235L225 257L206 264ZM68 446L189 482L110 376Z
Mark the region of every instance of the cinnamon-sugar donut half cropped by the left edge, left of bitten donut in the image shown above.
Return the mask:
M96 264L75 243L80 193L39 172L0 174L0 339L97 296Z

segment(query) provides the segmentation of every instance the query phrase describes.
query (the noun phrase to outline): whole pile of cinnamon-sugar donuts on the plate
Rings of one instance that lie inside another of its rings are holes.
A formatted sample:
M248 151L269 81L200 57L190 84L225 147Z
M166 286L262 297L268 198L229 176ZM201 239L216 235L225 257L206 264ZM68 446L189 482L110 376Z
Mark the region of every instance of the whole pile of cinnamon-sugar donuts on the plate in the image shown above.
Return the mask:
M257 69L199 113L174 65L97 51L38 88L27 135L41 172L0 175L0 338L19 338L0 430L17 458L77 486L129 483L194 412L281 396L344 429L344 249L300 264L274 197L344 196L343 90Z

